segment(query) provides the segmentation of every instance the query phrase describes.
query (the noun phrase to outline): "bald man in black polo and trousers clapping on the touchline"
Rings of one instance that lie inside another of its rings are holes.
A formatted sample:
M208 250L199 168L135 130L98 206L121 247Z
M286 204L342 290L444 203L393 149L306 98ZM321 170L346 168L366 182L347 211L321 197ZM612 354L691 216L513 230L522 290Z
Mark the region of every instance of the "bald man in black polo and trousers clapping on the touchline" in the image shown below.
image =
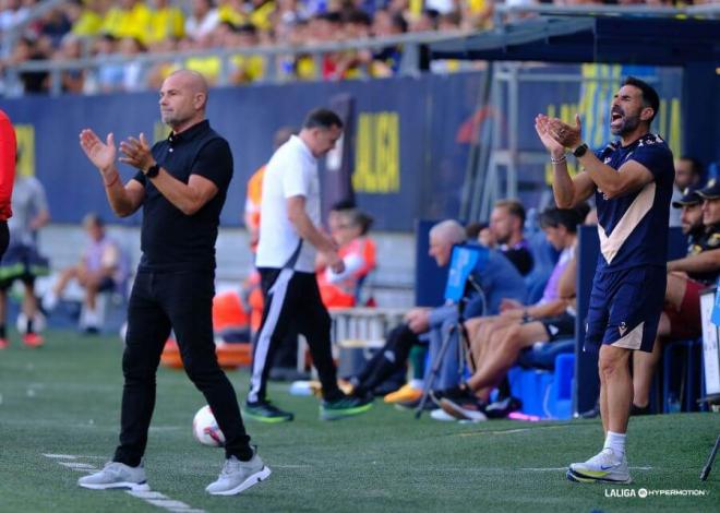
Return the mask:
M155 373L175 330L185 371L205 395L226 439L223 473L207 491L229 496L271 474L249 444L235 390L217 365L213 341L215 239L232 177L232 154L205 119L207 83L201 74L172 73L163 83L159 103L172 133L152 150L142 133L120 143L120 162L140 169L124 186L115 164L112 134L106 143L92 130L80 134L115 213L124 217L143 207L143 254L128 307L120 445L112 462L79 485L149 489L142 457L155 406Z

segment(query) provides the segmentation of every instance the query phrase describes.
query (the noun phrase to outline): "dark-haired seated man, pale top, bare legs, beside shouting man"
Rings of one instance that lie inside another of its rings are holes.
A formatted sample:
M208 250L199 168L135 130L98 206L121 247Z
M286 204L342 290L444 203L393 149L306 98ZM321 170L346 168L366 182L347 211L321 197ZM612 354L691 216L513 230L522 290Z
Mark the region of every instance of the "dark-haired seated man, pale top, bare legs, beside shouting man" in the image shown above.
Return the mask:
M575 333L575 256L577 225L585 207L542 213L540 223L553 247L562 251L543 298L535 306L512 305L495 317L468 321L476 371L457 387L440 392L440 405L458 419L484 420L490 393L505 378L520 351L538 342L553 342ZM507 301L506 301L507 303ZM480 327L478 327L480 326ZM494 413L493 413L494 414ZM501 411L497 416L503 416Z

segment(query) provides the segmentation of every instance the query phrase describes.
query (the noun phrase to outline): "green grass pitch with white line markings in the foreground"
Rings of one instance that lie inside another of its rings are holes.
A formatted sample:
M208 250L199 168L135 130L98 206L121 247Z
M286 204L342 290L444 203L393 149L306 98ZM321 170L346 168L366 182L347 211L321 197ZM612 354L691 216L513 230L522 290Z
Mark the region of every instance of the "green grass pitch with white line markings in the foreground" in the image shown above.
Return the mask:
M243 494L209 497L204 488L223 452L195 442L203 397L183 372L165 368L146 454L157 494L81 489L82 468L101 467L117 442L121 353L118 337L68 332L46 333L39 349L14 335L0 351L0 512L720 511L720 461L699 480L718 415L633 418L635 482L577 485L564 467L599 450L599 420L418 421L380 401L367 415L323 422L315 398L290 396L281 384L271 385L272 398L296 420L247 422L273 475ZM228 375L242 398L247 371ZM693 491L669 494L677 490Z

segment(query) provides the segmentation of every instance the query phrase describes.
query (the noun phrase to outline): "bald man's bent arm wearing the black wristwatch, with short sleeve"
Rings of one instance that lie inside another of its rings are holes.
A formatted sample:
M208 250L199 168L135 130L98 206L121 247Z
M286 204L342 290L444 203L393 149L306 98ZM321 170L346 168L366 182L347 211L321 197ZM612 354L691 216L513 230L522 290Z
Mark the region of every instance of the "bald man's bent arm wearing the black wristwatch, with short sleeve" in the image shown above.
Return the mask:
M218 167L224 166L224 163L220 160L225 158L225 154L229 152L229 148L219 147L220 145L227 146L227 143L221 140L215 140L205 145L201 152L200 162L195 163L197 171L203 172L203 175L208 174L208 176L213 176ZM128 141L120 143L120 150L125 155L120 160L136 167L143 172L147 172L156 164L145 135L142 133L140 134L140 139L129 138ZM163 167L149 180L160 194L180 210L180 212L185 215L193 215L205 206L219 190L213 179L195 172L196 170L192 170L193 172L190 175L188 183L178 180Z

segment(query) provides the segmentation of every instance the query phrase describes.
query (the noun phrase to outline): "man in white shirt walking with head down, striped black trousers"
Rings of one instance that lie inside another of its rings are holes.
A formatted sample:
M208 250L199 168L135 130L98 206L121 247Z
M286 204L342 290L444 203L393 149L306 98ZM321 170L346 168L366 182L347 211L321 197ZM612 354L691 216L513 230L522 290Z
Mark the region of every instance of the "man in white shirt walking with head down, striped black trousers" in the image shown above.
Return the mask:
M298 135L280 146L263 180L260 241L255 265L265 297L263 321L253 348L252 375L243 408L264 422L292 420L265 396L273 355L290 326L308 339L323 387L321 418L333 420L370 409L371 399L346 396L337 386L331 351L331 318L315 278L315 253L333 271L344 271L337 244L321 232L317 158L335 147L343 121L327 109L311 111Z

